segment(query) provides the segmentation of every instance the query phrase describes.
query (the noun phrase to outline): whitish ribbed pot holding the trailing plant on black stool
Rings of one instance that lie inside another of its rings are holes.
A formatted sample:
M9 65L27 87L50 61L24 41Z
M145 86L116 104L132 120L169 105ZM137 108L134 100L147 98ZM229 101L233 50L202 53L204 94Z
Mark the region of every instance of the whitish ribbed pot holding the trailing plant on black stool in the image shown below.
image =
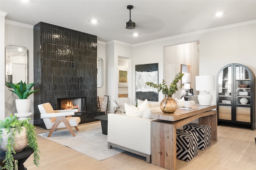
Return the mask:
M16 152L20 152L22 151L27 145L28 145L28 137L26 134L26 128L22 127L22 131L20 132L20 135L18 132L15 133L15 139L14 139L14 143L16 145L13 145L13 148ZM3 133L2 133L2 139L0 139L0 149L6 151L6 145L8 143L8 136L10 134L7 134L7 131L5 129L3 129Z

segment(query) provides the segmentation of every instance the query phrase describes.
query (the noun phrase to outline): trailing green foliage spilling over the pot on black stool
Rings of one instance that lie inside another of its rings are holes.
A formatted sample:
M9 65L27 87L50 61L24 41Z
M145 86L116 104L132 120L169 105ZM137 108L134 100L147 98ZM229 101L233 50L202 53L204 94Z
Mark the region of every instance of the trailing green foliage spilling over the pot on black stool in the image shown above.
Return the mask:
M16 146L15 144L15 135L16 132L20 134L22 131L22 127L26 128L26 135L28 137L28 147L32 148L34 150L34 155L33 155L33 163L36 166L39 166L40 162L40 156L39 154L41 153L38 147L38 142L36 138L36 133L34 127L31 123L28 122L29 119L24 119L24 120L18 120L17 116L13 116L12 114L10 117L6 117L4 120L0 120L0 142L2 141L2 133L5 129L7 131L8 139L7 139L7 145L6 145L6 154L5 158L2 161L5 166L2 167L3 169L7 170L13 170L14 169L14 158L13 154L16 154L16 151L14 150L13 146Z

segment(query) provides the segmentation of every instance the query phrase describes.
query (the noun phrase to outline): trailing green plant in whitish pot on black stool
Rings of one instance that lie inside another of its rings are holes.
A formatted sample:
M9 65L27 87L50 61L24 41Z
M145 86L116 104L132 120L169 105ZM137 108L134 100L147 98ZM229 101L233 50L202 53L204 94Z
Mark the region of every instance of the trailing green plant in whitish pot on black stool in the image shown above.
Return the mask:
M0 120L0 148L6 151L5 158L2 161L5 166L2 168L13 170L13 154L23 150L25 147L30 147L34 150L33 162L36 166L39 166L40 150L34 131L36 127L28 123L28 120L30 119L18 120L17 117L12 114L10 117ZM25 137L23 135L24 133ZM18 139L16 140L17 137ZM21 145L19 143L21 143Z

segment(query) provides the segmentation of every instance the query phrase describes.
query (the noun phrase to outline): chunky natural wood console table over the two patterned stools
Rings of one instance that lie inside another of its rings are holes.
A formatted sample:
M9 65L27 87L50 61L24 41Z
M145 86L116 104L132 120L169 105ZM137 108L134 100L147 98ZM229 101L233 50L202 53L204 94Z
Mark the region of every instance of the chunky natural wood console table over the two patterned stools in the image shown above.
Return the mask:
M152 113L157 120L151 122L152 164L169 170L176 170L176 129L199 119L200 124L211 126L211 139L217 141L216 105L201 106L198 109L177 109L174 113Z

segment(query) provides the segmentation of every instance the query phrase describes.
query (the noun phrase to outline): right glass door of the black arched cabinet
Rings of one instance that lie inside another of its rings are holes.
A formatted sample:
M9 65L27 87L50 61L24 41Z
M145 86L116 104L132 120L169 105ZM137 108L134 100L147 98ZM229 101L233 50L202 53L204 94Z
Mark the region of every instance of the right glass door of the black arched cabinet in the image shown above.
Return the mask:
M250 122L250 74L236 66L236 121Z

